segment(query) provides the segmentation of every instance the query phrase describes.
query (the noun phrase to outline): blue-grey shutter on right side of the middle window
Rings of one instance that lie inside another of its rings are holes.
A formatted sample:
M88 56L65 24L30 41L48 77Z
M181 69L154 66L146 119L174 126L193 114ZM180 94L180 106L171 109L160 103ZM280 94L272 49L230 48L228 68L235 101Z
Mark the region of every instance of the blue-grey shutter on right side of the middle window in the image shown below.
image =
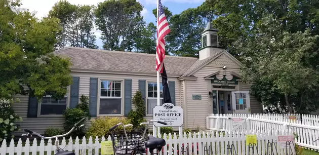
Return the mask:
M124 114L127 116L132 109L132 79L125 79L124 83Z

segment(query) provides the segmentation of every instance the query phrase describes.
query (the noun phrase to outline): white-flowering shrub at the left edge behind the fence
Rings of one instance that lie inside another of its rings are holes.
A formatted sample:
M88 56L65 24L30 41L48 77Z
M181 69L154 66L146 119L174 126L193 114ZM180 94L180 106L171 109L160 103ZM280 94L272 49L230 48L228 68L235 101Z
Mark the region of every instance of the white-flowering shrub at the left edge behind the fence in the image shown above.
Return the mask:
M11 107L13 100L0 99L0 142L4 139L14 138L12 132L20 131L20 126L15 121L22 121Z

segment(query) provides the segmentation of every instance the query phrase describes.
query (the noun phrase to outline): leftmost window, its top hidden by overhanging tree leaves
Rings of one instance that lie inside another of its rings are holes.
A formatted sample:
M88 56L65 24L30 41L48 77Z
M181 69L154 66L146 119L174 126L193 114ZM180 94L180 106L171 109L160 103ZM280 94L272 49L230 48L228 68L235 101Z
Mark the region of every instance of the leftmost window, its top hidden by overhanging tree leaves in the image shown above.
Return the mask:
M63 114L67 106L67 96L61 100L57 100L51 95L47 95L41 99L40 115Z

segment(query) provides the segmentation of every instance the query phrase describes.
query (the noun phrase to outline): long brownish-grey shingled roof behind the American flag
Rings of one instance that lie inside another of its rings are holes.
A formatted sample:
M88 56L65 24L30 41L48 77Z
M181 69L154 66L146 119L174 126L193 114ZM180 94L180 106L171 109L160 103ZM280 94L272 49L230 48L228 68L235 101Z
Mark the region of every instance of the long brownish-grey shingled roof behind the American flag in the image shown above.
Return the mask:
M88 69L156 75L154 54L74 47L56 51L55 54L69 57L72 62L71 70ZM168 76L181 76L196 61L197 58L179 56L166 56L164 60Z

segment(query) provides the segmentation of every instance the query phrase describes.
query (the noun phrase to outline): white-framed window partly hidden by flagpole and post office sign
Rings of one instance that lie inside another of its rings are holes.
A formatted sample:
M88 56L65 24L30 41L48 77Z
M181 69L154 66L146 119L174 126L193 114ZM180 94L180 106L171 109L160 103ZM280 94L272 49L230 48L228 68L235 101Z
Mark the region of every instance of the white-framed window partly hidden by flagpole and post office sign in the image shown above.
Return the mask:
M164 102L163 99L163 85L160 83L160 98L161 105ZM147 83L147 114L153 113L153 108L157 105L157 83Z

